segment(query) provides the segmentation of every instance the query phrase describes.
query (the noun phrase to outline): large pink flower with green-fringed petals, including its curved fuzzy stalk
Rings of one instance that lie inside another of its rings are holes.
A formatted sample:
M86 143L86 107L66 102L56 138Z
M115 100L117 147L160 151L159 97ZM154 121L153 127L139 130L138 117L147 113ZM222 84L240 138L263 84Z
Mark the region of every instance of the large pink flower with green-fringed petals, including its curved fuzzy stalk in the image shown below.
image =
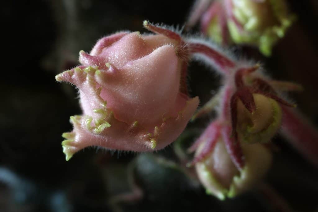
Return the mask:
M83 115L64 133L66 160L87 146L154 151L173 142L198 106L186 84L190 57L201 55L224 72L234 66L224 53L197 39L144 21L156 35L119 32L100 39L82 65L56 76L79 89ZM197 58L197 57L196 57Z

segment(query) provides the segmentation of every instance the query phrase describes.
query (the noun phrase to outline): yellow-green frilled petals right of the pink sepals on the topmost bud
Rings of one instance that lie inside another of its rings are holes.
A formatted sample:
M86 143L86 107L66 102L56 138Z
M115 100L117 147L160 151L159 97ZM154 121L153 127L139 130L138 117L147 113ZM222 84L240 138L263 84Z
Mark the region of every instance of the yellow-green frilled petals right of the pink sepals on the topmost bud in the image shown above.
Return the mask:
M232 40L238 44L259 46L265 55L285 35L294 16L285 0L226 0L228 27Z

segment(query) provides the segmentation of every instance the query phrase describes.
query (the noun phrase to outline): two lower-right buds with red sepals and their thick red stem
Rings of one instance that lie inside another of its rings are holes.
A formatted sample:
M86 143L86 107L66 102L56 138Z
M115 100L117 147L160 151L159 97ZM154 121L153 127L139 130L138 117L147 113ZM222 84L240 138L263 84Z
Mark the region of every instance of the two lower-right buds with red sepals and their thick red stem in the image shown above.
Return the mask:
M317 130L281 96L282 91L299 91L301 86L274 81L259 65L235 64L230 73L221 72L225 85L195 114L194 118L216 108L218 117L189 149L196 152L189 166L195 165L207 193L222 200L251 189L262 179L272 162L266 144L281 126L292 145L318 162Z

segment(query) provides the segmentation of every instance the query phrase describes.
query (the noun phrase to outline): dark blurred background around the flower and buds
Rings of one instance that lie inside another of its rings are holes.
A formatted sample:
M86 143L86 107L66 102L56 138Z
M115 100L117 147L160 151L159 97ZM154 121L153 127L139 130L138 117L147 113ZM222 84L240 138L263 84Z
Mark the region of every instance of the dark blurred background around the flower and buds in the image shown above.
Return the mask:
M275 47L271 58L264 58L250 47L232 48L242 57L262 61L276 79L301 83L305 91L291 97L317 124L318 3L289 3L298 21ZM180 171L183 166L171 168L158 160L160 155L177 162L173 146L154 154L91 148L65 161L61 134L71 130L69 116L81 111L76 90L55 82L54 76L74 67L79 51L89 51L104 35L119 30L145 32L144 19L182 26L192 4L171 0L2 2L1 212L277 211L256 187L223 202L207 196L202 187ZM219 86L218 76L194 62L189 73L191 95L206 102ZM209 118L191 123L188 128L200 131ZM191 137L186 139L192 141ZM317 210L317 168L279 136L273 142L277 151L265 182L296 211ZM131 181L142 187L144 198L115 201L114 196L132 190Z

